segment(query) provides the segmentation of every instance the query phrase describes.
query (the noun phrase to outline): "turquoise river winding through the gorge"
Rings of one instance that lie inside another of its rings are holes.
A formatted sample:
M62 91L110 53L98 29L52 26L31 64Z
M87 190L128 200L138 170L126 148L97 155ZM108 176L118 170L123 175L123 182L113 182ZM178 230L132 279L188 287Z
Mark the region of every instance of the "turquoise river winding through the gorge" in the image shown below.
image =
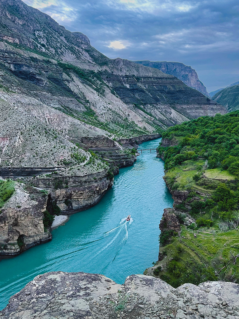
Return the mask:
M139 149L156 148L160 139ZM158 259L158 224L173 200L163 181L163 161L144 151L120 168L101 201L70 216L52 231L52 241L0 261L0 309L35 276L48 271L101 273L117 283L143 273ZM132 219L125 221L127 215ZM133 220L133 221L132 221Z

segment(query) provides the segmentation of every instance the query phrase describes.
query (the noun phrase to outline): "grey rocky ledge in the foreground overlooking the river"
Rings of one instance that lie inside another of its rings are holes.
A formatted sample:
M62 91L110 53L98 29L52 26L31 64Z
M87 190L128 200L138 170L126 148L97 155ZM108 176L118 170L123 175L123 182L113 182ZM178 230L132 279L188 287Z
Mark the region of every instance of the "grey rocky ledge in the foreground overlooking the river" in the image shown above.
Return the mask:
M9 300L11 319L239 319L239 284L207 281L177 289L161 279L131 275L124 285L98 274L48 272Z

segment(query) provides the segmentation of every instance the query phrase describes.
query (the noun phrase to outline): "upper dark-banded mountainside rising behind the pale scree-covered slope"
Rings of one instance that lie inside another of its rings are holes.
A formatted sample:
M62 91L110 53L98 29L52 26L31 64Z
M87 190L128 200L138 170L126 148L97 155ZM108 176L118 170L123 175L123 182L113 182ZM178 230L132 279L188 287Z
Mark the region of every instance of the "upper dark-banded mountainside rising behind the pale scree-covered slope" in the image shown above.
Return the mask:
M107 58L85 35L67 31L20 0L0 3L1 88L18 107L21 93L34 105L38 100L44 108L82 120L79 125L121 137L158 133L159 127L187 118L225 112L175 76Z

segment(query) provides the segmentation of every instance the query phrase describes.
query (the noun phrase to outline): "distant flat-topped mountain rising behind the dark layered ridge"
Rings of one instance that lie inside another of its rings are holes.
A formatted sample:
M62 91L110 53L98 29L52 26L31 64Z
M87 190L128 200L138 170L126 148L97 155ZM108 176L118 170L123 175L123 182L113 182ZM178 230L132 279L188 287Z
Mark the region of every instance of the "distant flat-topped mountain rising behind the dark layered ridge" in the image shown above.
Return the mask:
M206 86L199 80L197 72L191 68L191 66L185 65L180 62L166 62L166 61L134 61L142 65L149 66L151 68L156 68L164 73L174 75L183 81L187 86L192 87L199 92L209 95L206 90Z

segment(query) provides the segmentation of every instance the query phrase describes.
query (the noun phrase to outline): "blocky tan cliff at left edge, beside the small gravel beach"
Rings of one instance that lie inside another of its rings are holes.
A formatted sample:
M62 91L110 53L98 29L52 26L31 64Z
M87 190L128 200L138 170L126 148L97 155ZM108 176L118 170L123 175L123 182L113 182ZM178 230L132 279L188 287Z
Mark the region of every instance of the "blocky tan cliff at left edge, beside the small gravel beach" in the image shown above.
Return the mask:
M47 192L24 186L15 183L14 194L1 208L0 255L17 255L52 238L43 225Z

